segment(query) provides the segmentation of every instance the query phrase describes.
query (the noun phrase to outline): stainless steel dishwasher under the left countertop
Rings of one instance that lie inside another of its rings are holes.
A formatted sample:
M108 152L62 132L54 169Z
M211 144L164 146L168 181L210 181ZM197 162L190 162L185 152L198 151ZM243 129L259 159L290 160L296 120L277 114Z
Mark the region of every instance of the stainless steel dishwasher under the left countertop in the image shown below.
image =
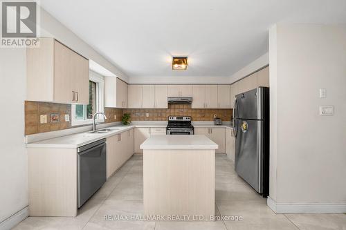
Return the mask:
M106 139L78 148L78 208L107 180Z

